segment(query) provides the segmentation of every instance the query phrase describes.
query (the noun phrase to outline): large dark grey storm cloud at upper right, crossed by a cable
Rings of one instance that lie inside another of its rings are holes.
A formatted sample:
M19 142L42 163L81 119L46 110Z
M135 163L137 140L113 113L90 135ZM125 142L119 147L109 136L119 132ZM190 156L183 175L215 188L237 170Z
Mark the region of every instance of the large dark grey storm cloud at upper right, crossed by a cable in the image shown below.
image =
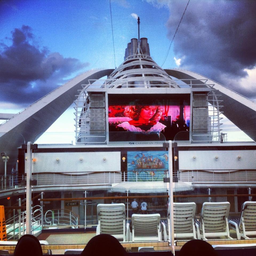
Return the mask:
M159 2L169 7L172 39L187 1ZM184 58L181 67L229 86L256 65L255 17L256 1L191 0L174 38L175 57Z

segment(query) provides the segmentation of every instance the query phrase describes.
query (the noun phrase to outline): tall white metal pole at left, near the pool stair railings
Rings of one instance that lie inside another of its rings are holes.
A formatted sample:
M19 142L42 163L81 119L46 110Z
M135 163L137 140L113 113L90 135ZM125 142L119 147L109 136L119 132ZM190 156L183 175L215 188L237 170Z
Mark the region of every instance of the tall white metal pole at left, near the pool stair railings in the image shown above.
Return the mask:
M30 180L32 175L32 150L31 142L27 143L27 186L26 186L26 234L31 235L31 186ZM24 227L23 227L24 229Z

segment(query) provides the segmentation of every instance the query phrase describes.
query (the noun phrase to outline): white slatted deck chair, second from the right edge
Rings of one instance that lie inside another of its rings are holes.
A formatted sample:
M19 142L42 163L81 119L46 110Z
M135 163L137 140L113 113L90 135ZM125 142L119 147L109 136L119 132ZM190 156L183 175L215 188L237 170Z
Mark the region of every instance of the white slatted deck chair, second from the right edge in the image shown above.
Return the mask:
M203 203L200 216L200 230L202 230L202 238L226 236L233 239L229 235L229 226L227 217L229 215L229 202L220 203Z

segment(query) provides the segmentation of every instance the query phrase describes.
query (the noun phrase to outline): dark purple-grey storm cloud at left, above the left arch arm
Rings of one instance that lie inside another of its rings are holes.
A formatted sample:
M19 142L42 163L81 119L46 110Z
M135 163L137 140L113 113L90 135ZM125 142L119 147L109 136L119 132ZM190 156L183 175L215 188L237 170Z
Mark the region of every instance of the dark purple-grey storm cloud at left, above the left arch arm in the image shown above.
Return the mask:
M0 101L32 103L62 84L63 77L88 65L40 49L33 39L31 28L23 25L12 32L11 46L1 45Z

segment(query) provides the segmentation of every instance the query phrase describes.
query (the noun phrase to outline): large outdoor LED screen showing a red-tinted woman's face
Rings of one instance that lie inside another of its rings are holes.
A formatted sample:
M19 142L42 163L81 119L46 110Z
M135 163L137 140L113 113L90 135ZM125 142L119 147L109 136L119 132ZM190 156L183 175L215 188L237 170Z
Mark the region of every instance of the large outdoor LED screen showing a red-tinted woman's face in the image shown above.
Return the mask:
M110 94L109 141L173 140L189 131L190 94Z

